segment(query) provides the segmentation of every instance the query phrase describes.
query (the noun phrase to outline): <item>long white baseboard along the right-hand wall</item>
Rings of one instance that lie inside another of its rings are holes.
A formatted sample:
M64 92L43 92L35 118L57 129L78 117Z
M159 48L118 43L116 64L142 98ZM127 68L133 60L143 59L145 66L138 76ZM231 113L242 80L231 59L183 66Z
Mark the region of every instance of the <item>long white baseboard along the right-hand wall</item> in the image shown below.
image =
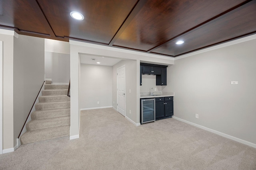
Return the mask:
M176 120L179 120L179 121L188 123L188 124L190 124L190 125L199 127L199 128L204 129L204 130L206 130L206 131L215 133L215 134L220 135L220 136L222 136L222 137L226 137L226 138L231 139L231 140L233 140L233 141L242 143L242 144L244 144L244 145L248 145L248 146L250 146L250 147L256 148L256 144L251 143L251 142L248 142L248 141L244 141L243 139L239 139L239 138L237 138L237 137L233 137L233 136L227 135L226 133L222 133L222 132L219 132L219 131L210 129L210 128L208 128L208 127L204 127L204 126L198 125L198 124L196 124L196 123L192 123L192 122L190 122L190 121L186 121L186 120L184 120L184 119L180 119L180 118L175 117L175 116L173 116L173 118L176 119Z

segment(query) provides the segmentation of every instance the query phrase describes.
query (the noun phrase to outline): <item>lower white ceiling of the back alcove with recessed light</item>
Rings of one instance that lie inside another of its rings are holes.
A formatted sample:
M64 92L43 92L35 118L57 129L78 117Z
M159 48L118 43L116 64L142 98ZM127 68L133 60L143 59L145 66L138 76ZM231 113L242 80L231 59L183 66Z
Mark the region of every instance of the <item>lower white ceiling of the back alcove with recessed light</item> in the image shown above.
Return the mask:
M92 60L92 59L95 59L95 60ZM122 59L109 58L109 57L103 57L103 56L97 56L97 55L80 54L81 64L113 66L114 64L118 63L121 60ZM98 64L97 62L100 62L100 64Z

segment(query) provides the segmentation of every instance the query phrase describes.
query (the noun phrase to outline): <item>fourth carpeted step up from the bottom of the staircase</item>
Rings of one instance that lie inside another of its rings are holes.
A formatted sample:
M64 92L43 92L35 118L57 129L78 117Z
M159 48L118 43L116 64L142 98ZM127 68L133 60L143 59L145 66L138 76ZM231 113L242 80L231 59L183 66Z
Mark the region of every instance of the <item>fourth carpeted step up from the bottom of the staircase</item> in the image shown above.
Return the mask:
M70 107L70 101L37 103L35 107L36 110L68 108Z

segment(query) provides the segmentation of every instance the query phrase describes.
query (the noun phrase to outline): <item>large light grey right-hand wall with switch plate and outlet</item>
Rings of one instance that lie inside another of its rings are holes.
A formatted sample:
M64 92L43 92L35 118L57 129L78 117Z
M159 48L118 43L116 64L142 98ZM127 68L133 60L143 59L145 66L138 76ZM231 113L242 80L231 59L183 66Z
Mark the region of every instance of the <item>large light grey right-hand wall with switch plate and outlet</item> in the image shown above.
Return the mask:
M175 92L174 116L256 144L255 47L256 39L175 60L164 89Z

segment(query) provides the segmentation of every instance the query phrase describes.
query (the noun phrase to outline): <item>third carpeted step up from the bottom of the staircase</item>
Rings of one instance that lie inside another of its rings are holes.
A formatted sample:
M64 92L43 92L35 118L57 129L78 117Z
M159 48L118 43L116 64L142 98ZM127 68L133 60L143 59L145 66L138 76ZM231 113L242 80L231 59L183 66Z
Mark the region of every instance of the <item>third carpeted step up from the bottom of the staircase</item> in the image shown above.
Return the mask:
M45 119L50 117L61 117L70 115L70 108L38 110L31 113L31 119Z

